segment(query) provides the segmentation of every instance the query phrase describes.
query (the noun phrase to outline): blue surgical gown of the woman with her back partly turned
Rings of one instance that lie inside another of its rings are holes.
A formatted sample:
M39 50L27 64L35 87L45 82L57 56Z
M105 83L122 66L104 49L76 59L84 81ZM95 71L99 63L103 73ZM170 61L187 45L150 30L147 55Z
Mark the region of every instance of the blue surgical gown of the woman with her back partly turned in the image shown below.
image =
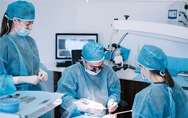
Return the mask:
M175 83L151 84L136 94L132 118L187 118L188 98L184 90Z

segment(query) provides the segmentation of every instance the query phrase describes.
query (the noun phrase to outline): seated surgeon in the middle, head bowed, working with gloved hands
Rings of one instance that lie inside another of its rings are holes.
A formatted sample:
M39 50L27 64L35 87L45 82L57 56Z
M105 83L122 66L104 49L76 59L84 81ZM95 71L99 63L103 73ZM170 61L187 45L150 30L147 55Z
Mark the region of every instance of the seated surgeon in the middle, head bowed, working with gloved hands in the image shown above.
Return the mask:
M82 63L66 68L58 81L63 93L62 118L102 117L114 112L120 102L120 80L112 67L104 64L104 48L91 42L83 46Z

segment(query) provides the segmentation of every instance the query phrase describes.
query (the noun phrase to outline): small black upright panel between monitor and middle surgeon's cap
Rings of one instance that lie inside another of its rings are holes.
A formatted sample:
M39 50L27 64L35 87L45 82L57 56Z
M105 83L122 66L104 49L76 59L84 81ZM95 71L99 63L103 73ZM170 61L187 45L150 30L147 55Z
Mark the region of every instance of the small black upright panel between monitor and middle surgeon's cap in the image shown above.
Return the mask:
M72 64L81 62L82 50L72 50Z

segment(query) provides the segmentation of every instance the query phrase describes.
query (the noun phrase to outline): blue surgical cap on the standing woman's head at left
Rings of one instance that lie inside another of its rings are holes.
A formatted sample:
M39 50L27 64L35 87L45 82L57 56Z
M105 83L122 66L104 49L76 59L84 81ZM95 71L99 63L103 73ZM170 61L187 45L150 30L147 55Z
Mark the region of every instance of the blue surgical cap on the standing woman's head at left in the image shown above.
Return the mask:
M32 3L26 1L16 1L8 5L6 15L9 20L16 17L23 21L34 21L35 7Z

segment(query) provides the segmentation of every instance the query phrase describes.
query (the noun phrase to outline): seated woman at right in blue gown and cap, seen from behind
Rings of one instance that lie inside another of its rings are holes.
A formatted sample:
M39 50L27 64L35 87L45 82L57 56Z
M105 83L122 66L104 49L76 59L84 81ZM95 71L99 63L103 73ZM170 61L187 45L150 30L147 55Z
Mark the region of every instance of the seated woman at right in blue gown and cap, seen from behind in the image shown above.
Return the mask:
M143 79L150 85L136 94L132 118L188 118L188 98L167 70L167 56L144 45L138 56Z

